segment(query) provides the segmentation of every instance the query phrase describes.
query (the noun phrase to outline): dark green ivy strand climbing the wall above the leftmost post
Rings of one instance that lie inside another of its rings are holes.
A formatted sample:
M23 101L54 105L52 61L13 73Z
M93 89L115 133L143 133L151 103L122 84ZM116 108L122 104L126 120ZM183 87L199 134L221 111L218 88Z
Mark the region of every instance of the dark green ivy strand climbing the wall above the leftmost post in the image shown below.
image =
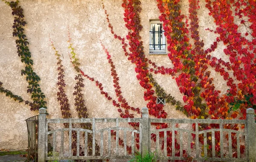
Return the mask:
M47 108L46 101L44 101L45 95L41 92L40 85L38 84L40 78L32 70L33 60L31 59L31 53L28 47L29 42L28 39L26 39L26 34L24 34L23 28L26 24L23 19L23 9L18 6L18 1L10 2L10 7L12 8L12 15L16 15L12 26L12 35L17 37L15 42L17 44L17 53L20 57L20 61L26 65L25 70L21 70L21 75L26 75L26 81L29 84L27 93L31 94L33 100L33 103L30 103L29 106L31 106L31 110L34 111L41 107Z

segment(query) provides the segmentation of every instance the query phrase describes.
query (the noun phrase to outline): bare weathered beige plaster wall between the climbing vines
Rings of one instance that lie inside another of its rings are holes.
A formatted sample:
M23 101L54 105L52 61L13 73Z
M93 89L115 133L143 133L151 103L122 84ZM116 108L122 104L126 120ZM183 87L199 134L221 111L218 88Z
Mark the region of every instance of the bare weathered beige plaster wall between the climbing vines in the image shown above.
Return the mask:
M103 1L114 31L125 37L127 29L123 21L122 0ZM135 65L124 55L121 42L113 39L101 3L101 0L20 0L25 20L28 23L25 33L29 39L34 71L41 78L40 85L42 92L46 95L51 118L61 117L61 113L56 95L58 90L56 85L57 61L49 42L49 36L63 56L61 59L63 59L64 79L67 83L66 92L72 116L77 117L72 95L76 83L74 80L76 72L68 56L68 26L73 46L81 62L81 69L85 73L102 82L105 91L115 98L110 65L100 45L100 41L102 41L112 56L119 75L122 94L130 106L142 108L147 104L143 99L144 89L136 78ZM216 26L213 23L213 18L208 16L204 2L200 2L200 6L198 11L200 36L204 39L204 49L207 49L215 41L217 35L205 31L205 28L215 29ZM167 55L149 55L148 53L149 20L157 19L160 15L156 1L141 0L141 7L140 17L143 30L140 35L144 43L146 57L159 65L172 67ZM183 0L183 14L188 15L188 8L188 1ZM20 70L24 66L17 56L15 38L12 37L13 16L11 13L11 8L0 1L0 81L3 82L4 88L20 95L24 100L29 100L30 95L26 93L26 79L20 75ZM228 59L222 51L223 47L219 45L219 48L211 54L217 58ZM215 84L217 89L224 90L223 79L217 73L214 73L213 76L218 82ZM172 77L167 75L154 75L154 77L167 93L182 101L182 95ZM84 84L83 92L90 117L119 117L116 107L100 94L93 82L85 79ZM0 149L26 149L27 135L24 120L37 115L37 112L31 112L29 106L6 98L4 94L0 94L0 109ZM186 117L183 113L177 112L175 106L170 104L167 104L164 109L168 113L168 118ZM139 115L136 116L139 117Z

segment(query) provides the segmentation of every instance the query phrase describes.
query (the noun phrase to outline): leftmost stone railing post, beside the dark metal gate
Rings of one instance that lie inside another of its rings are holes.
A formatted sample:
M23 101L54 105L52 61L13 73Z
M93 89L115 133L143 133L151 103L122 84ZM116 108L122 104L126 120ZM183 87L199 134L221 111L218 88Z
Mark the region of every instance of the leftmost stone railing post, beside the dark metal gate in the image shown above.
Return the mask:
M39 109L38 115L38 162L45 162L46 109Z

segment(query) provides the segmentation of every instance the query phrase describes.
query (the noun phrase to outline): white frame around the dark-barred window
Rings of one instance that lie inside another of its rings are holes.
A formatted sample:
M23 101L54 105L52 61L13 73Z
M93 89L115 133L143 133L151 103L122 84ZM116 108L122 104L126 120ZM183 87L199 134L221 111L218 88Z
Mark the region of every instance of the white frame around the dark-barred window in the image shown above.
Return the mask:
M149 20L149 54L166 54L166 36L164 35L164 31L162 31L162 41L160 45L163 45L163 49L156 48L156 47L151 47L151 45L155 45L154 42L151 42L152 39L152 30L151 30L151 24L163 24L163 22L160 22L159 20Z

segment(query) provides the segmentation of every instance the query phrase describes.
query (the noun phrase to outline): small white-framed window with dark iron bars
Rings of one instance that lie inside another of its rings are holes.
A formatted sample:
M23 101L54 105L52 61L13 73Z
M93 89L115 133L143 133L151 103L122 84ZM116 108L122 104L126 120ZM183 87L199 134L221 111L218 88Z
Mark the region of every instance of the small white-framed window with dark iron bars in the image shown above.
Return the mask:
M150 21L149 53L166 54L166 37L163 31L163 23Z

